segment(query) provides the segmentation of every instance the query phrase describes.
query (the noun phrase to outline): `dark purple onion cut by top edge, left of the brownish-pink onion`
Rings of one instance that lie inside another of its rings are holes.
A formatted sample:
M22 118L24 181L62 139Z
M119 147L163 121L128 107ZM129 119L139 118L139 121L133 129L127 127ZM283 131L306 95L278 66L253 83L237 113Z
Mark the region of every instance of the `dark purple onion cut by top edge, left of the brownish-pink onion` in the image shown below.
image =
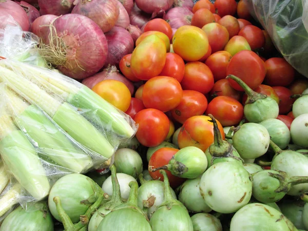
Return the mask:
M38 0L38 6L40 6L41 15L53 14L63 15L69 14L74 5L74 0Z

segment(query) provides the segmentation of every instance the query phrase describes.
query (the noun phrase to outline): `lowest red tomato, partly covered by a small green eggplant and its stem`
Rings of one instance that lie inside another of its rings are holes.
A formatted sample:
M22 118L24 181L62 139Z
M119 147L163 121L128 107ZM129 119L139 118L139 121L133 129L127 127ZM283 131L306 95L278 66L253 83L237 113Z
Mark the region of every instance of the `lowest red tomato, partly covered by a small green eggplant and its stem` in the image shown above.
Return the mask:
M164 176L160 174L159 170L152 172L150 171L150 168L158 168L161 166L164 166L169 163L171 158L179 151L179 149L176 148L160 148L156 152L153 153L149 160L149 165L148 165L148 170L151 178L153 180L160 180L164 181ZM170 171L166 171L166 174L168 176L169 184L171 188L177 188L180 186L185 179L184 178L179 178L171 174Z

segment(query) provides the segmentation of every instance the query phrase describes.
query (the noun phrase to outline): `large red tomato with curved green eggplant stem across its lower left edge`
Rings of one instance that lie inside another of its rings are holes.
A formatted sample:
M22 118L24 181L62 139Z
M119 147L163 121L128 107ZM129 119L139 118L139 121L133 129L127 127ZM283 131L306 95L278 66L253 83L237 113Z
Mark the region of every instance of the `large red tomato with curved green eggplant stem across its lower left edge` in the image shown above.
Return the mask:
M227 67L227 75L229 74L236 75L254 90L263 82L266 69L264 62L255 52L242 50L230 60ZM228 81L234 89L244 91L234 80L228 79Z

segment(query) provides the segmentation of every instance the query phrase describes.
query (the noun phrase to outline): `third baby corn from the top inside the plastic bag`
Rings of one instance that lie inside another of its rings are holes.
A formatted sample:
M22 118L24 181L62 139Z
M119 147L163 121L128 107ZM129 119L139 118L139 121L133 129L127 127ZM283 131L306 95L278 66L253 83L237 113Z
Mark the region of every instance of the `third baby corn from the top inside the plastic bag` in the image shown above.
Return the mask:
M75 147L65 133L40 109L35 105L29 105L8 88L5 92L16 126L27 132L32 144L40 150L39 153L78 173L91 167L91 158L82 149Z

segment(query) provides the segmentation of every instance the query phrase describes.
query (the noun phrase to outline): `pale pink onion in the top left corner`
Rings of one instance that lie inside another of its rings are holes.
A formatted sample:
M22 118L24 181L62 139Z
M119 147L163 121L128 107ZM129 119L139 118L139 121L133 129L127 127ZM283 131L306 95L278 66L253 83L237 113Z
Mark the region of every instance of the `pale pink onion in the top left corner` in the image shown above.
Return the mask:
M0 29L4 29L7 25L16 25L16 23L24 31L28 31L30 28L29 18L25 10L11 0L0 0L0 18Z

